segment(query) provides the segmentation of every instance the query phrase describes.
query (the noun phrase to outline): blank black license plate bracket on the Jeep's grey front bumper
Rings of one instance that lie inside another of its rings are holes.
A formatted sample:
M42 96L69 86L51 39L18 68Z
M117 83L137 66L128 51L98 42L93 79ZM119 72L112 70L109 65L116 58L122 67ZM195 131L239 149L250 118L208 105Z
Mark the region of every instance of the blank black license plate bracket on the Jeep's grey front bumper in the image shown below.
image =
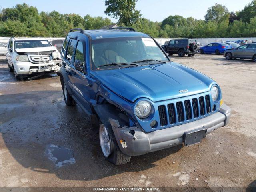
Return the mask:
M190 145L200 143L202 139L205 138L206 132L207 132L206 128L199 128L199 129L185 132L183 135L184 145L190 146Z

